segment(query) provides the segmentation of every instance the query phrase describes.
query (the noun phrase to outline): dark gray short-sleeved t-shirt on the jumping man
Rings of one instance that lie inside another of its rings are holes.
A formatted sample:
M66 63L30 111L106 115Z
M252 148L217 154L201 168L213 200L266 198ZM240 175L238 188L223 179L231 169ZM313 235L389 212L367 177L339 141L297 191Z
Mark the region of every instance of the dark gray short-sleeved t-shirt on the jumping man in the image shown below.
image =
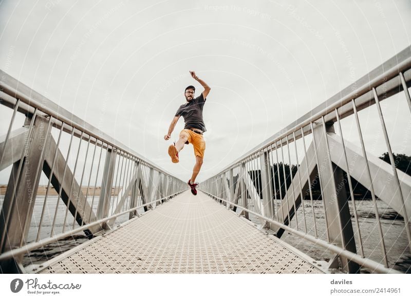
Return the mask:
M202 94L191 102L181 105L175 116L182 116L184 118L184 128L196 128L206 132L206 125L202 119L202 108L207 99L204 99Z

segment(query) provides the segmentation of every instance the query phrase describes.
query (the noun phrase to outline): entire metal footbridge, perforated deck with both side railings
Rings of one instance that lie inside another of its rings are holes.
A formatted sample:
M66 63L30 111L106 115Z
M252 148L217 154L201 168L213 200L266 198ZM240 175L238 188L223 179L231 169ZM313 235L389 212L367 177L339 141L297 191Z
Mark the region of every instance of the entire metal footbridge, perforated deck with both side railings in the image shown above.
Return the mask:
M409 156L390 141L393 126L410 132L385 112L402 105L410 127L410 47L200 182L197 196L1 76L1 273L410 271ZM383 157L367 143L371 109Z

